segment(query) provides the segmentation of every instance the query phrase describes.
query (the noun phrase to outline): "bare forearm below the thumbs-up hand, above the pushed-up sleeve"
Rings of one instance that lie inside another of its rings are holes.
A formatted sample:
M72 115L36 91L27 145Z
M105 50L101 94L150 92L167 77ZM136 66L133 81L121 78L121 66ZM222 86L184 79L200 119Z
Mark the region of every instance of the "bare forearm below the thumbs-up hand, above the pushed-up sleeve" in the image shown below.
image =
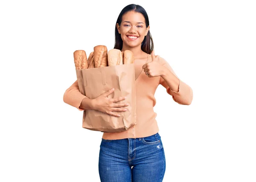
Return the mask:
M161 77L163 78L163 80L166 81L167 85L172 91L179 91L180 80L175 77L175 75L171 71L169 71L168 68L163 68L163 74L161 75Z

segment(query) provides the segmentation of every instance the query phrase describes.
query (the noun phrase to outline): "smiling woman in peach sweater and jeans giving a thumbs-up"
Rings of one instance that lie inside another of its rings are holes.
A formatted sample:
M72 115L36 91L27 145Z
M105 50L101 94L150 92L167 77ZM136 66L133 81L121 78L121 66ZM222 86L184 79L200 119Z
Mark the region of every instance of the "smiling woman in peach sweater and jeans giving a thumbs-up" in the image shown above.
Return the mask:
M192 89L181 81L171 66L154 55L154 44L149 31L148 15L143 7L126 6L119 14L115 26L115 46L134 54L136 78L137 124L123 132L105 132L99 151L99 176L102 182L162 182L166 170L163 143L158 133L154 93L163 85L172 99L190 105ZM95 109L119 117L113 111L125 112L125 98L109 99L113 90L95 99L79 92L77 81L64 93L64 102L78 108Z

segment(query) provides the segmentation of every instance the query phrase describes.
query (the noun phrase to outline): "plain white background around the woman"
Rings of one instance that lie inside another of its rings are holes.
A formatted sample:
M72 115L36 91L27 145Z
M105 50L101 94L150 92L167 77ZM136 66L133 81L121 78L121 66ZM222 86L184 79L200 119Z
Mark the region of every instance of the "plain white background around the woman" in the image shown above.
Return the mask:
M167 4L168 2L168 4ZM147 11L155 54L194 93L179 105L159 85L164 182L256 182L253 0L0 3L0 181L99 182L102 133L63 102L73 52L114 46L120 11Z

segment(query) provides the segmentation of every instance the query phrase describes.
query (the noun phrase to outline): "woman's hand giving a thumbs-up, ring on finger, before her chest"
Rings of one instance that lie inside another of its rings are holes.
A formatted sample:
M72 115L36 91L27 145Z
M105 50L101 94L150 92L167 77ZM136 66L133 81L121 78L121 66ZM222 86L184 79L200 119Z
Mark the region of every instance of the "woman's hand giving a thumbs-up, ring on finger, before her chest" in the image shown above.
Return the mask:
M162 76L164 72L164 66L160 64L160 57L154 55L154 50L151 53L152 61L142 66L145 74L148 77Z

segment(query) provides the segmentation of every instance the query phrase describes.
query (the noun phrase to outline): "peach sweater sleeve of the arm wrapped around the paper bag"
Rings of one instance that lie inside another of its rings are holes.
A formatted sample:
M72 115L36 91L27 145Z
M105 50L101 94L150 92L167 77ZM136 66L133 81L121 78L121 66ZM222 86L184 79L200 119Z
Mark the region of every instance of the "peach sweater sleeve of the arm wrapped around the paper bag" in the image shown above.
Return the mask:
M87 98L79 91L79 86L77 80L69 87L64 93L63 101L73 107L77 108L79 111L84 111L84 109L79 108L81 102L84 98Z

